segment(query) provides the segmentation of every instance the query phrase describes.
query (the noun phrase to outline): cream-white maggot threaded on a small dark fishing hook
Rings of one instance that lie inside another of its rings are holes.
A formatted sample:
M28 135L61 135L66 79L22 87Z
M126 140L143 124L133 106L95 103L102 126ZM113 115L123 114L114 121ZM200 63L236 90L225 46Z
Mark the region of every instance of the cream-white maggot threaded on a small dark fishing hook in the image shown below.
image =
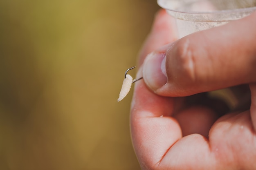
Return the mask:
M132 79L132 76L127 74L128 71L132 70L133 68L135 68L135 66L128 68L124 74L124 82L122 84L122 88L121 91L119 93L119 98L117 99L117 102L120 102L122 99L124 99L124 97L126 97L126 95L129 93L130 88L132 86L132 83L137 82L138 80L142 79L143 77L140 77L138 79Z

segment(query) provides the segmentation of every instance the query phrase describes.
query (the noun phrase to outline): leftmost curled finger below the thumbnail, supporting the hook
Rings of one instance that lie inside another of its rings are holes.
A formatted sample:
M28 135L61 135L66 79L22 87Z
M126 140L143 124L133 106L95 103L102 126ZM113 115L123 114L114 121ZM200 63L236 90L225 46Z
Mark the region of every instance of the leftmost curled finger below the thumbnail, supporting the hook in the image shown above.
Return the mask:
M168 148L182 137L178 122L169 117L172 100L152 93L143 81L135 84L130 124L132 143L142 169L157 168Z

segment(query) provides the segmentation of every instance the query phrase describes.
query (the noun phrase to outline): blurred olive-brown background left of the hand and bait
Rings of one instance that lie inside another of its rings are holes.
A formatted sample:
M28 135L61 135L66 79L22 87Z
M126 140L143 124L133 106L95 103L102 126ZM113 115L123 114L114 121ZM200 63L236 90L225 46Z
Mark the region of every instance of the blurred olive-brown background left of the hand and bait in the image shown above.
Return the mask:
M140 169L132 92L117 98L158 9L156 0L0 0L1 170Z

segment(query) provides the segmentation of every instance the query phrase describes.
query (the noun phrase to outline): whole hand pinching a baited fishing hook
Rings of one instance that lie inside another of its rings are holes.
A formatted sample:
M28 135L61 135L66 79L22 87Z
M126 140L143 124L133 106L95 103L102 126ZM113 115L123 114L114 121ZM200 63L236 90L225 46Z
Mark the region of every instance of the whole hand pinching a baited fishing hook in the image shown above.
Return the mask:
M141 168L255 170L256 13L177 41L174 27L160 11L139 56L130 121ZM202 93L239 84L249 110L221 115Z

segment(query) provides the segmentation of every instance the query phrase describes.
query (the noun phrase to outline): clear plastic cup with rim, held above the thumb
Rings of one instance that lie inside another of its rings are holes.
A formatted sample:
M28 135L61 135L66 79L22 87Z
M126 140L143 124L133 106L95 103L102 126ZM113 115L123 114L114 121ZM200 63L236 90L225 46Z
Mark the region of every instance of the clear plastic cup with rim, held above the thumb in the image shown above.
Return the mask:
M180 38L256 11L256 0L157 0L157 3L176 18Z

